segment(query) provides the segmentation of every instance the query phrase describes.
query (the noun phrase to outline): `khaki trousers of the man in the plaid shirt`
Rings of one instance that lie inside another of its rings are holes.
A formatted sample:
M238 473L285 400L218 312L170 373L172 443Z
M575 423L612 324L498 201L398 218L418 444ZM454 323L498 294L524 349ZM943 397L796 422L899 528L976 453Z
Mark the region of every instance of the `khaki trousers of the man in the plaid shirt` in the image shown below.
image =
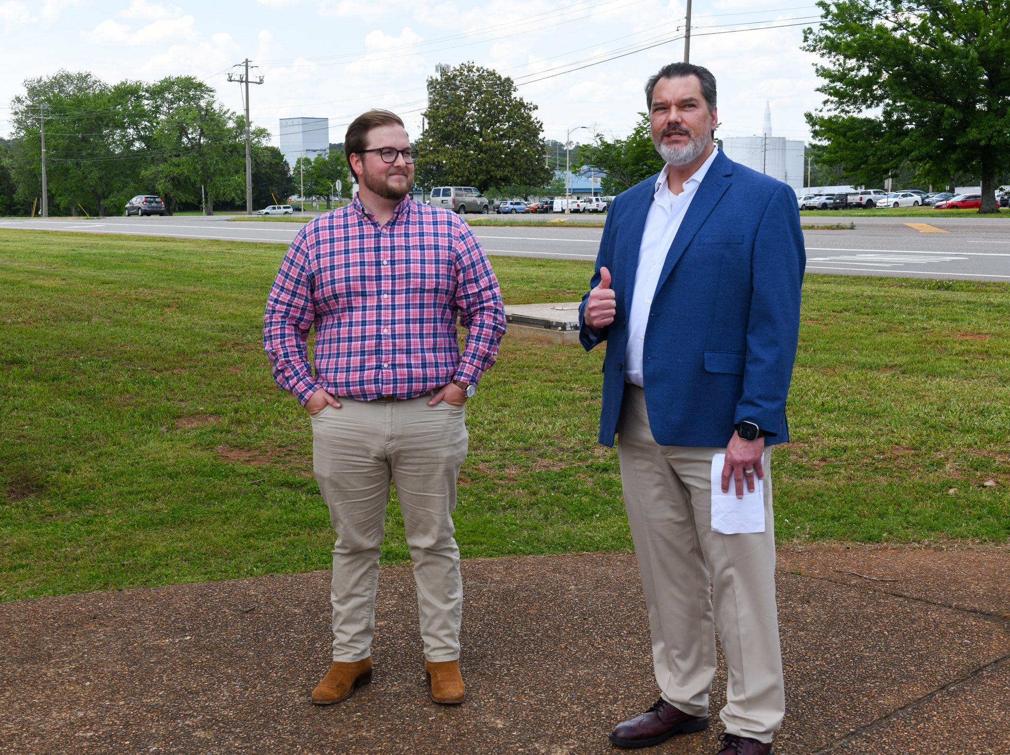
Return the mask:
M312 417L313 466L337 532L333 546L333 660L369 657L390 479L414 562L424 657L460 657L463 581L452 534L456 482L467 457L466 408L430 396L340 399Z

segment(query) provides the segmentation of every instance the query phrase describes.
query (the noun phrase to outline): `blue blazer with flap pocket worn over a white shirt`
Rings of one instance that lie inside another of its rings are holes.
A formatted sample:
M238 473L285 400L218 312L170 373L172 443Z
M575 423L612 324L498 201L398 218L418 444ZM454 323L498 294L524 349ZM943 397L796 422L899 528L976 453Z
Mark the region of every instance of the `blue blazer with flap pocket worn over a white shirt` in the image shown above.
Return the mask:
M624 352L638 247L656 177L618 196L603 229L596 274L607 267L614 321L594 335L579 308L588 351L608 341L600 442L614 444L624 396ZM642 350L645 406L661 445L723 447L743 420L789 440L786 396L800 328L806 251L796 195L720 150L667 252Z

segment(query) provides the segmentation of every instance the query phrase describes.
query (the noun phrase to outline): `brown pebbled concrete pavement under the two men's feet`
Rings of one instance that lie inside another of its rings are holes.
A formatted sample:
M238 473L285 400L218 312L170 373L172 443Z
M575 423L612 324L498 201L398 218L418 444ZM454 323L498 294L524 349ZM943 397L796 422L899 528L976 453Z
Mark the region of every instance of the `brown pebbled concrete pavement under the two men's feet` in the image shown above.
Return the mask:
M658 696L634 557L464 561L464 705L427 697L409 566L374 682L315 708L326 572L0 604L0 752L610 753ZM776 752L1010 752L1010 554L786 546ZM712 726L648 752L716 751Z

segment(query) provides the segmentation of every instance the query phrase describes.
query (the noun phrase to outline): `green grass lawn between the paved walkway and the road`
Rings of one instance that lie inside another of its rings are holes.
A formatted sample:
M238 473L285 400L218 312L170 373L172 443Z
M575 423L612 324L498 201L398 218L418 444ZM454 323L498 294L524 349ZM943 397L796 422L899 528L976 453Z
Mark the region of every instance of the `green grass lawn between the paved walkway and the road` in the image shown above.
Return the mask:
M309 420L261 347L283 253L0 230L0 600L328 566ZM578 299L592 269L491 261L514 304ZM807 279L781 540L1010 534L1008 306L1002 284ZM631 547L601 358L504 341L468 409L466 556ZM387 533L406 560L395 502Z

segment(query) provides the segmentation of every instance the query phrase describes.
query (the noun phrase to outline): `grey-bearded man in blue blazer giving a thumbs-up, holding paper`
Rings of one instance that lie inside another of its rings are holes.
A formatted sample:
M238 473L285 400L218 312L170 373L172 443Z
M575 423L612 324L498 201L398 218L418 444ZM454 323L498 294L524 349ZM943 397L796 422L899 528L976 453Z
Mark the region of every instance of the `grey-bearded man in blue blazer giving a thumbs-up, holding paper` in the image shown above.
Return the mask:
M767 755L785 715L769 447L789 440L799 212L786 184L716 148L709 71L667 66L645 97L667 166L614 200L579 311L583 346L607 342L600 442L617 436L662 690L610 741L708 726L714 625L728 667L719 752ZM755 486L764 498L744 501ZM749 526L714 529L716 503L732 514L751 500Z

